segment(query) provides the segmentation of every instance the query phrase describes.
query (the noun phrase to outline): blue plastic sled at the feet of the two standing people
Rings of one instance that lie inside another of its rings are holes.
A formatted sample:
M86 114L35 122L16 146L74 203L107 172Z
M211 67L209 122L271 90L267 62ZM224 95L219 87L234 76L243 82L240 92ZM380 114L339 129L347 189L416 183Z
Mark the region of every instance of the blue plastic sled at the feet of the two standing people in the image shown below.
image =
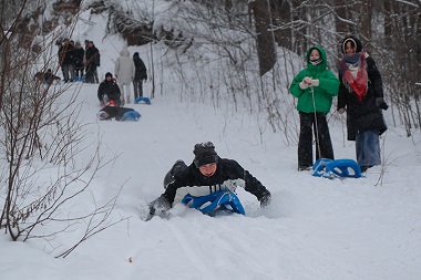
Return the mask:
M312 176L325 178L333 178L335 176L360 178L362 174L356 160L320 158L312 165Z

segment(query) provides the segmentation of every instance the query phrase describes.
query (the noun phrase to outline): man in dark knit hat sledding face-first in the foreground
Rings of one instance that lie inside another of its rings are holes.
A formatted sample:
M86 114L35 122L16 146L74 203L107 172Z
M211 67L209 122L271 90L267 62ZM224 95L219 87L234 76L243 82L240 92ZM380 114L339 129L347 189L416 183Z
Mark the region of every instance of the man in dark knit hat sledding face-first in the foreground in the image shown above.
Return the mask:
M270 191L236 160L220 158L212 142L196 144L193 153L193 163L175 174L165 193L148 205L151 217L165 212L188 194L199 197L218 190L234 191L238 186L255 195L261 207L270 204Z

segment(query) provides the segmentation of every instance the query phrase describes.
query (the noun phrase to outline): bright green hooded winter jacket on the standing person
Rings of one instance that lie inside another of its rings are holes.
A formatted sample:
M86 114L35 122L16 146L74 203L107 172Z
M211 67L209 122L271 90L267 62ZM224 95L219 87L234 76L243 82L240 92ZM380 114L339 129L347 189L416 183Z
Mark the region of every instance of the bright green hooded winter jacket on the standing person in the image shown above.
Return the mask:
M321 54L322 62L318 65L312 65L310 63L310 53L314 49L319 50ZM339 80L333 75L333 73L328 70L326 51L320 46L314 46L307 51L307 69L301 70L298 75L292 80L289 87L290 93L298 98L297 111L305 113L321 112L329 113L332 105L332 97L338 95L339 91ZM312 79L319 80L319 86L308 87L301 90L299 83L306 77L310 76ZM312 92L315 95L315 102L312 100Z

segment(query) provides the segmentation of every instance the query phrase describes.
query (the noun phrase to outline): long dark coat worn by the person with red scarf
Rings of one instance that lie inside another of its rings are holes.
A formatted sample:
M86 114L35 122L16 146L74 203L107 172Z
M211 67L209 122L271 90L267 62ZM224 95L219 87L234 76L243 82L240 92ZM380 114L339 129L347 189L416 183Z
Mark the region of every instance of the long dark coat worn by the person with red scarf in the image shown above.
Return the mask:
M379 131L379 135L388 129L381 108L376 106L376 98L383 97L383 85L376 62L371 56L367 58L368 89L367 95L359 102L357 95L350 93L342 81L339 70L338 110L347 108L348 139L355 141L359 132Z

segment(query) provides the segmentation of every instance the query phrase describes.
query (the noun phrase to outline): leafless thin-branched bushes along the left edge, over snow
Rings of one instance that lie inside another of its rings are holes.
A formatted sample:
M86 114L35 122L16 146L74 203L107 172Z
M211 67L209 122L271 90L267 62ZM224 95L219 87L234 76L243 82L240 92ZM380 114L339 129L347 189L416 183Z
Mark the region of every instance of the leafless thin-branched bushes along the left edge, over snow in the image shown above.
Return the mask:
M10 12L1 22L6 32L0 40L0 228L12 240L49 240L86 221L83 241L126 219L110 219L117 195L88 212L69 210L73 201L89 195L97 170L115 158L104 159L101 142L89 141L88 126L79 118L83 105L78 103L79 91L45 83L45 70L55 73L59 68L53 56L44 54L52 53L60 32L43 38L44 49L37 48L39 27L33 27L32 38L19 32L19 27L40 7L19 3L18 12ZM34 77L39 71L41 74ZM91 159L80 163L78 156L90 146L96 146ZM40 231L45 225L54 226Z

